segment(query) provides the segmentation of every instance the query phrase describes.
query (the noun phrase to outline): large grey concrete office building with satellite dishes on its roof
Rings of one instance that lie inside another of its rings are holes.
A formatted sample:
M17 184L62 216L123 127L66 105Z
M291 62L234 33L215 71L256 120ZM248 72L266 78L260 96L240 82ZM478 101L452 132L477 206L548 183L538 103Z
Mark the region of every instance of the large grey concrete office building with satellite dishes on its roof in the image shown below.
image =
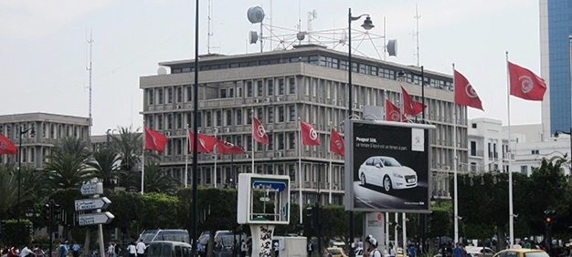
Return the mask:
M368 57L353 57L353 109L363 117L367 106L384 107L385 100L399 106L401 87L421 101L420 69ZM170 139L161 165L172 176L191 183L186 127L193 128L194 60L159 64L158 75L140 78L143 89L144 126ZM302 180L302 202L342 204L344 159L329 151L330 128L344 133L348 117L347 54L323 46L297 46L291 50L238 56L200 57L198 113L200 133L217 136L241 146L245 154L198 154L199 185L232 185L241 172L290 175L292 200L298 200ZM405 81L397 79L408 70ZM467 161L466 108L454 104L452 77L425 71L426 120L437 129L430 132L432 192L449 197L449 173L453 143L459 157ZM453 111L457 139L452 139ZM252 144L251 118L259 118L270 143ZM377 117L377 119L384 119ZM322 144L302 146L299 155L299 121L312 124ZM187 125L188 124L188 125ZM252 170L254 158L254 170ZM299 159L302 178L299 176ZM332 165L330 165L330 162ZM331 169L331 170L330 170ZM216 170L216 171L215 171ZM331 174L331 175L330 175Z

